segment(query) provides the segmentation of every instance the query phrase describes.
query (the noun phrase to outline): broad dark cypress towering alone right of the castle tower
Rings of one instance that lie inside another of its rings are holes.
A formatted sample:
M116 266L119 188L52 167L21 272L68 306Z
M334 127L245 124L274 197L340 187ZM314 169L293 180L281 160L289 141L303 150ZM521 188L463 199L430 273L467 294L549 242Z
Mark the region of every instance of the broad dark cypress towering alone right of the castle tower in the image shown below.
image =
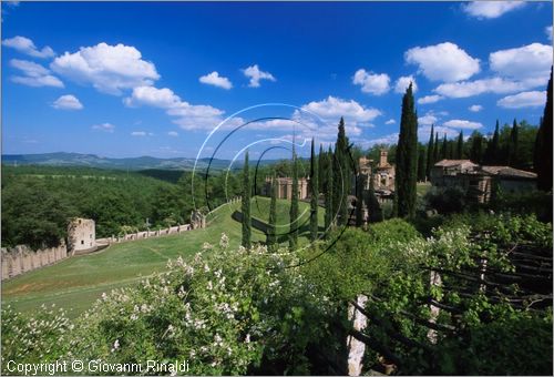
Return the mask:
M418 179L418 114L413 101L412 83L410 83L402 98L402 115L396 161L394 215L413 217L416 214L416 184Z

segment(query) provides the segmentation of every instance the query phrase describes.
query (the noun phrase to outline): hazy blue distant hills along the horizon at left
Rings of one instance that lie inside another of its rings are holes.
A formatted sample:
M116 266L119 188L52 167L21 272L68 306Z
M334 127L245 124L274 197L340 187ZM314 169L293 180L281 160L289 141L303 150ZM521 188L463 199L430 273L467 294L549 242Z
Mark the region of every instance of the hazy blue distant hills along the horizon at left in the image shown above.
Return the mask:
M151 156L111 159L95 154L81 153L41 153L41 154L3 154L2 163L9 165L48 165L48 166L88 166L119 170L179 170L191 171L194 167L195 159L175 157L158 159ZM205 169L209 164L209 159L198 160L197 169ZM213 160L211 170L223 170L229 164L227 160Z

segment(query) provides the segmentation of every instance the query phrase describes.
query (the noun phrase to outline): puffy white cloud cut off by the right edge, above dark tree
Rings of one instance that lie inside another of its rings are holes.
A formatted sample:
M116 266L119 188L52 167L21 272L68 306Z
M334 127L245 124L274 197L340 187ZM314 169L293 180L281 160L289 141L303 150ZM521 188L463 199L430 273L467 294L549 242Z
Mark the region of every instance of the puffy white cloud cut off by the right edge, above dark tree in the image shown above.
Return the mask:
M489 63L493 71L504 77L547 82L552 65L552 45L532 43L496 51L489 55Z

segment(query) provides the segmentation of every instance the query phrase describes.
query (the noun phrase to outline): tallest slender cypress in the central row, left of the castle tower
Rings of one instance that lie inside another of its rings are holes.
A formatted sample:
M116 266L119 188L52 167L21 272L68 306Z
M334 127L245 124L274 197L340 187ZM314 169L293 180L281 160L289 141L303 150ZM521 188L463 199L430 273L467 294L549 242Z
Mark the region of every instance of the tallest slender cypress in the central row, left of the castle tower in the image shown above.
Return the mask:
M337 142L335 144L335 213L338 213L339 225L348 224L348 194L350 193L350 164L348 160L348 137L345 131L345 120L340 118Z

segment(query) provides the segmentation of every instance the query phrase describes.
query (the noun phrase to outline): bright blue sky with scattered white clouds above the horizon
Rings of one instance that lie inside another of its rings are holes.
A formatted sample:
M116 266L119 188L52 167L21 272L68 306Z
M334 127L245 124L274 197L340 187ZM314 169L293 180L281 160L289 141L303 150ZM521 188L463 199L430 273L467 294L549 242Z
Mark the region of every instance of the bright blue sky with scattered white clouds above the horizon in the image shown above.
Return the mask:
M410 81L422 141L486 134L537 124L551 64L551 2L2 3L2 153L276 157L341 115L367 147Z

